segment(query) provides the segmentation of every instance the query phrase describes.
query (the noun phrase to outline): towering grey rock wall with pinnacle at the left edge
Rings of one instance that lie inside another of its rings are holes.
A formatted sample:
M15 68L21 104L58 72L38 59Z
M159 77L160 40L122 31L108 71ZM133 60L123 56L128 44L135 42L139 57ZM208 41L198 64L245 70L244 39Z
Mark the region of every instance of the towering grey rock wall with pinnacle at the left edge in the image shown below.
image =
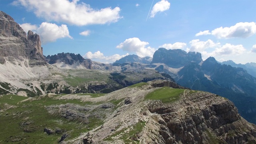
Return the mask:
M30 65L44 64L40 36L26 32L8 14L0 11L0 63L29 59Z

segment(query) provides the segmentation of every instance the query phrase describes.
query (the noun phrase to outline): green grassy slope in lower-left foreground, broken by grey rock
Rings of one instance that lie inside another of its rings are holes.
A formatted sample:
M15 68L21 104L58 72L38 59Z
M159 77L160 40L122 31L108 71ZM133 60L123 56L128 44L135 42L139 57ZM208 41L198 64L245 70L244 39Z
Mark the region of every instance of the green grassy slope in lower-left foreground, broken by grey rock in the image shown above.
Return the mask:
M63 94L62 94L63 95ZM87 94L90 95L90 94ZM92 94L92 97L103 96L104 94L96 95ZM60 95L56 95L60 96ZM54 96L54 97L56 97ZM27 97L4 95L0 97L0 109L3 110L8 104L16 107L9 108L0 112L0 143L14 144L18 143L44 143L53 144L60 140L62 134L51 134L44 133L44 128L51 128L52 130L60 128L69 134L68 139L73 139L81 132L89 131L88 128L95 128L100 126L102 120L92 116L89 118L89 124L85 124L78 121L67 120L59 115L51 115L45 109L45 106L56 105L56 104L79 104L86 106L92 104L91 102L81 102L80 100L56 100L54 97L36 97L38 100L27 100L25 102L19 102ZM19 102L17 104L17 102ZM116 104L116 101L110 101ZM118 101L119 102L119 101ZM24 122L32 122L28 125L22 125ZM24 129L31 130L32 132L24 132ZM17 141L17 142L15 142Z

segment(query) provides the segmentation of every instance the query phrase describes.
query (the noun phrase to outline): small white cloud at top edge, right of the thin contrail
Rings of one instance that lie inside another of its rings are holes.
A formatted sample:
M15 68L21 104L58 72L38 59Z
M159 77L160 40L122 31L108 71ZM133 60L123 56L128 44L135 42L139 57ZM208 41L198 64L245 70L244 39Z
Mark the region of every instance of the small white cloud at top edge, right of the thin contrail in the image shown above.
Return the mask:
M168 10L170 8L170 2L167 0L161 0L160 2L157 2L151 12L150 12L150 18L154 18L157 12L163 12L165 10Z

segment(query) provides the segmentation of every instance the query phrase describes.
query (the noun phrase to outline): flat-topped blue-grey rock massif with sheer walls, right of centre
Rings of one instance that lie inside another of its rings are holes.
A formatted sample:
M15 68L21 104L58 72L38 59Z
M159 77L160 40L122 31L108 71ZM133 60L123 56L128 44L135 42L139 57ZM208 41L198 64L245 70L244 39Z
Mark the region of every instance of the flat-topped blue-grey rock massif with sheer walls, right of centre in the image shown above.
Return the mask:
M180 68L189 62L202 62L202 56L199 52L185 52L184 50L167 50L159 48L153 55L151 64L164 63L172 68Z

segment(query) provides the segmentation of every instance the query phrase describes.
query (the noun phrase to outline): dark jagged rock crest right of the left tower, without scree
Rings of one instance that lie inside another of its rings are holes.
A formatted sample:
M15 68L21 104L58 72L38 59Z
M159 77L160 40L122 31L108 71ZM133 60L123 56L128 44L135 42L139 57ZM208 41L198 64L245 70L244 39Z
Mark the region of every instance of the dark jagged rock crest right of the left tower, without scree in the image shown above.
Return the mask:
M92 60L84 59L80 54L73 53L59 53L55 55L48 55L46 61L49 64L64 63L68 65L82 65L87 69L92 69Z

